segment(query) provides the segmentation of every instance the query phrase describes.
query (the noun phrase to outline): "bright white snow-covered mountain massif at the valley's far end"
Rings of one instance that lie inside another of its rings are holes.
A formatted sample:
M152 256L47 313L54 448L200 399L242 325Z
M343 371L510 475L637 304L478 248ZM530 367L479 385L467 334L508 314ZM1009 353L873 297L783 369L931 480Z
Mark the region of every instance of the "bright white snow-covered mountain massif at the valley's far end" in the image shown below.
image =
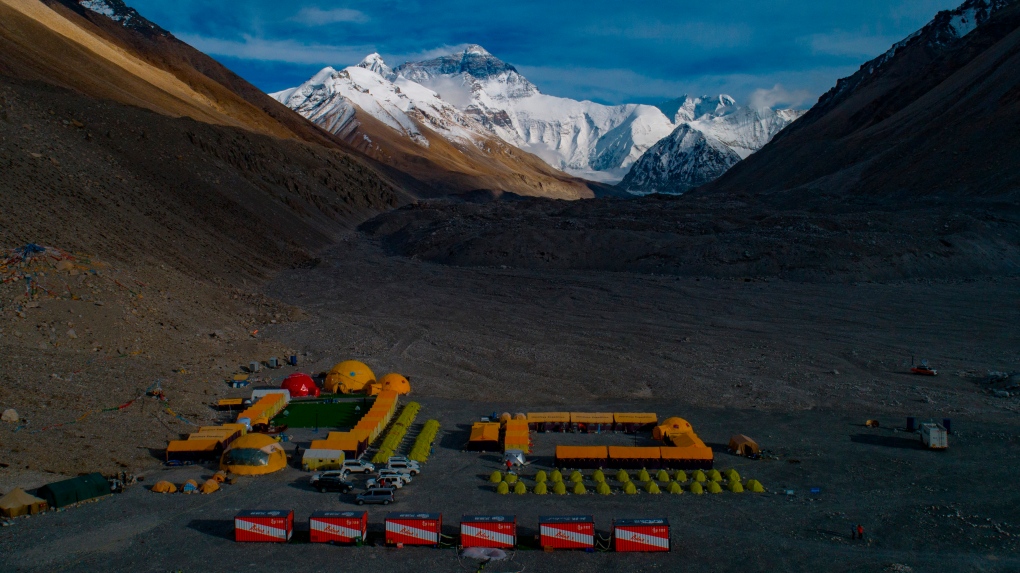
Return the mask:
M428 138L419 124L476 145L495 136L569 174L610 184L620 181L639 158L682 125L706 134L740 159L796 119L796 112L752 110L728 96L683 97L661 106L549 96L476 45L395 68L371 54L357 66L327 67L298 88L271 95L335 134L355 128L360 108L422 146ZM646 190L635 187L634 192Z

